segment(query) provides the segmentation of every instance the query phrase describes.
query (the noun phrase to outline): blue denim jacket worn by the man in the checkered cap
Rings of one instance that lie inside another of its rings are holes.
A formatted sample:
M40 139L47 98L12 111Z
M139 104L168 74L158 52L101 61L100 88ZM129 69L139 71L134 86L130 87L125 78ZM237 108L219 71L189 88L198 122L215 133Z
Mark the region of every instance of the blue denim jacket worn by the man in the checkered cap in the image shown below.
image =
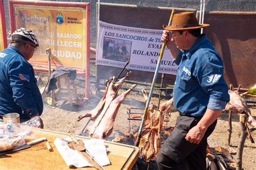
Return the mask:
M32 110L26 113L25 110ZM43 100L32 65L9 45L0 52L0 114L19 113L29 118L43 112Z

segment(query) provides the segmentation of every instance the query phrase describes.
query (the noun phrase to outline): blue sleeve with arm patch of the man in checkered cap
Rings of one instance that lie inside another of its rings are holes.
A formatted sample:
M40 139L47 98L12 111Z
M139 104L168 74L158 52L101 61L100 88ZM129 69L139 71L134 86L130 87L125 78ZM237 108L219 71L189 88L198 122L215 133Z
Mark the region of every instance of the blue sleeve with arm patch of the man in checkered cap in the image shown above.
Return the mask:
M25 60L13 62L9 67L9 80L14 101L21 107L23 114L29 117L38 114L36 101L33 98L33 81L35 76L31 64ZM26 113L25 110L31 110Z

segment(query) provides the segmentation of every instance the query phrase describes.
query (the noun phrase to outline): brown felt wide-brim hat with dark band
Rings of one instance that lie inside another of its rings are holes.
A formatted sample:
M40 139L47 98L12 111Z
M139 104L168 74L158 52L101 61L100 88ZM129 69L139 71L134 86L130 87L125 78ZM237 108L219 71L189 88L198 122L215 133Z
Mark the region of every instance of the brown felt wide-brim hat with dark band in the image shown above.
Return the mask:
M180 12L173 16L172 25L163 25L163 28L169 31L179 31L200 29L209 25L199 24L194 12Z

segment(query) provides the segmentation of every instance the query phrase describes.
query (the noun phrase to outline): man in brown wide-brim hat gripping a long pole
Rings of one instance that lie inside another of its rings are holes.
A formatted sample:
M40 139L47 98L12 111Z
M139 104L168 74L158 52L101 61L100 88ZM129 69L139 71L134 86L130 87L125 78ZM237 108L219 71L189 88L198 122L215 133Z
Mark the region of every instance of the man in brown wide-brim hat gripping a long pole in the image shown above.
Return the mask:
M230 100L223 59L200 33L206 26L193 12L177 13L170 26L163 25L161 40L178 65L173 105L179 117L158 153L159 169L206 169L207 137Z

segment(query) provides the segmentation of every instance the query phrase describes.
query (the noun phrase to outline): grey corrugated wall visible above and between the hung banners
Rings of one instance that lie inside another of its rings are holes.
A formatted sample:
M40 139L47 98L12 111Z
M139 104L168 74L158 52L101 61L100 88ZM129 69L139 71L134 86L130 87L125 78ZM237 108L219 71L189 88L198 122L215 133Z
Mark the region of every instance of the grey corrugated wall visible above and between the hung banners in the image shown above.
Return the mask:
M96 3L97 0L91 1L62 1L62 2L90 2L91 3L91 43L95 47L96 43L96 25L97 25L97 13ZM118 4L131 4L139 6L163 6L173 8L191 8L200 10L200 0L100 0L102 3L118 3ZM6 27L10 30L8 0L4 0ZM205 11L256 11L255 0L208 0L205 3Z

